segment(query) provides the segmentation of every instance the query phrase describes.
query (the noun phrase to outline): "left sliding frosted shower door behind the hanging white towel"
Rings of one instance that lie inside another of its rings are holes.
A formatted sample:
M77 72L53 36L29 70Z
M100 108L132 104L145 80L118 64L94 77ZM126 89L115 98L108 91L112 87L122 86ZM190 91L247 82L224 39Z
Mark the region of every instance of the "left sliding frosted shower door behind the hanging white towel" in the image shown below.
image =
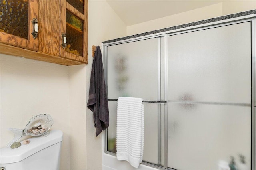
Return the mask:
M116 152L116 110L118 97L138 97L143 100L161 100L161 63L163 38L111 45L107 50L107 86L110 126L107 150ZM163 79L162 79L163 81ZM162 96L163 97L163 96ZM161 135L160 105L144 103L144 156L143 160L159 163L159 135ZM160 132L160 134L159 134ZM161 139L161 136L160 136ZM160 160L161 164L161 160Z

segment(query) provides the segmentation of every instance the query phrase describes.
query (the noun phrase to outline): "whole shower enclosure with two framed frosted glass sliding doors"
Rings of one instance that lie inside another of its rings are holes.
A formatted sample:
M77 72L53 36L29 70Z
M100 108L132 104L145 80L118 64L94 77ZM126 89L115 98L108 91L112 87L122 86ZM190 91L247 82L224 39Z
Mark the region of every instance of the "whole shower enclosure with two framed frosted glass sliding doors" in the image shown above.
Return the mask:
M116 153L118 97L144 100L144 164L255 168L255 18L103 42Z

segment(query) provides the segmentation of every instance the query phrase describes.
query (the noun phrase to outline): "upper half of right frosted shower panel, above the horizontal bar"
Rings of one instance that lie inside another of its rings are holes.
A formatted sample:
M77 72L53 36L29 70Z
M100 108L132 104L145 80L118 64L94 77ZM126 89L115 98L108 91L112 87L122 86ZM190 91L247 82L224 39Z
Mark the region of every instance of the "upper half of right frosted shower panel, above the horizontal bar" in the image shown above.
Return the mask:
M245 22L169 36L168 99L250 104L250 32Z

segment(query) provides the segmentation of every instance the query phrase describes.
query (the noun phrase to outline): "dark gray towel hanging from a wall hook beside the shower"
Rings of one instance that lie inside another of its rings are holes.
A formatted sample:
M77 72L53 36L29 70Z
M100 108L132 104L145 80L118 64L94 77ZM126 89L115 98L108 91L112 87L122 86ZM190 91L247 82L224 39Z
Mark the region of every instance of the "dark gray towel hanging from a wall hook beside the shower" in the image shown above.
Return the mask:
M108 97L106 93L102 56L99 46L96 47L92 63L87 107L93 112L96 136L98 136L102 130L108 128L109 125Z

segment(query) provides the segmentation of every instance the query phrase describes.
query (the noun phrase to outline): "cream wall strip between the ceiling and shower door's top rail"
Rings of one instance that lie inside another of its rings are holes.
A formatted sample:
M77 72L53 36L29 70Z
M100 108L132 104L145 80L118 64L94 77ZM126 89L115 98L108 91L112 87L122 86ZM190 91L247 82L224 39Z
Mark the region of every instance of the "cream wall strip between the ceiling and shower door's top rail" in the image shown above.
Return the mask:
M127 36L256 9L256 0L225 0L222 3L127 26Z

